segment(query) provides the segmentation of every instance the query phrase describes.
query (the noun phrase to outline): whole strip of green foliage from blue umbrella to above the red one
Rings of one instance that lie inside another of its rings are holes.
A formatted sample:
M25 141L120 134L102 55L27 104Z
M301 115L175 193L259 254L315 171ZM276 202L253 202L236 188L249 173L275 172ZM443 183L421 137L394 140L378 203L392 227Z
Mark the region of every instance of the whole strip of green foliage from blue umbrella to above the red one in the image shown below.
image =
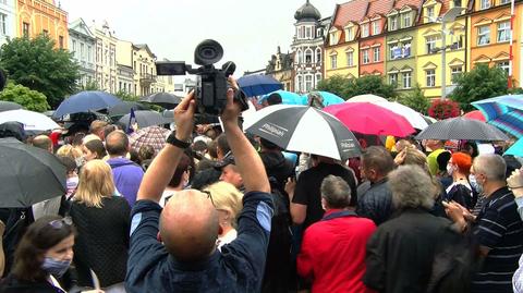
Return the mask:
M365 75L358 78L346 78L341 75L333 75L318 83L318 90L326 90L336 94L345 100L357 95L373 94L386 99L394 99L398 94L396 86L389 85L381 76Z

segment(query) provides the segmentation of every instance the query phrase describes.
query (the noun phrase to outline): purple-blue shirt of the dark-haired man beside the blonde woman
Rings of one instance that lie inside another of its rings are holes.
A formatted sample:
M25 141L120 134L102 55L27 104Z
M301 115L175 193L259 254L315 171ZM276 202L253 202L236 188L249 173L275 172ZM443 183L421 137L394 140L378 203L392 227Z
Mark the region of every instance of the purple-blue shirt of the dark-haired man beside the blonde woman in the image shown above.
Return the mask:
M111 158L107 163L112 169L112 176L114 178L114 185L119 193L127 199L127 203L133 207L136 202L136 194L138 193L139 183L144 178L144 170L135 162L127 158Z

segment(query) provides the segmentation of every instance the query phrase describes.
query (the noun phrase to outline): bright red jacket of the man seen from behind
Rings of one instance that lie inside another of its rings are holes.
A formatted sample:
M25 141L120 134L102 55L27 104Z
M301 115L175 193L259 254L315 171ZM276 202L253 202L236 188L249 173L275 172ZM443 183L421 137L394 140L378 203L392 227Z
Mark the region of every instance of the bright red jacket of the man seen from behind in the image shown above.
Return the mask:
M313 281L312 292L374 292L362 278L365 247L374 222L348 210L332 209L305 231L297 273Z

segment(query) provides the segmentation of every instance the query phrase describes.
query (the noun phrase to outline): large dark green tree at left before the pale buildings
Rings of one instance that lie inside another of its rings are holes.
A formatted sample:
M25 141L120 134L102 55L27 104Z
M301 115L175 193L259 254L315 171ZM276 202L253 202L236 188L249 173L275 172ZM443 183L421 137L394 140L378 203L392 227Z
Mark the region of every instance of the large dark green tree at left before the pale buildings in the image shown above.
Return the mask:
M46 35L8 39L0 50L0 65L9 80L42 93L53 108L75 93L80 77L72 53L56 49Z

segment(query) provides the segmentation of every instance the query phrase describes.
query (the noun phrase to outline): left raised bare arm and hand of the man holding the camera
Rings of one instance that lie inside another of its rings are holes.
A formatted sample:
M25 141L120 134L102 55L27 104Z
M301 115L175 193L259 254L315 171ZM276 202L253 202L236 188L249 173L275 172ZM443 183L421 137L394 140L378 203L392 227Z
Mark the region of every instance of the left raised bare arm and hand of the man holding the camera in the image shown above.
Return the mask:
M196 109L194 91L190 93L174 108L174 122L177 123L175 138L181 142L187 142L194 126L194 112ZM183 148L167 144L153 160L145 172L142 184L139 185L137 200L149 199L160 202L161 194L177 170Z

